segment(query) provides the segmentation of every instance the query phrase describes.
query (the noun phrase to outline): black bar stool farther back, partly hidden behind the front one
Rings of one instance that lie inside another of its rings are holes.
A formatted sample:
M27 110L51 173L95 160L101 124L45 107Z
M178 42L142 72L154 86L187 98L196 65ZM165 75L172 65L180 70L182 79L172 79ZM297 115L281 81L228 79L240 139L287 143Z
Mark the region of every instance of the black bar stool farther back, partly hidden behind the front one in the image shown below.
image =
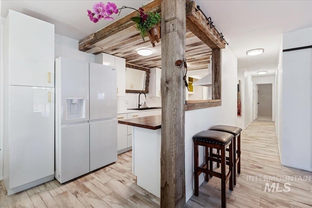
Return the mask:
M234 135L234 139L233 139L233 149L234 149L233 178L234 179L233 180L234 180L234 185L236 185L236 166L237 166L237 173L240 173L240 132L242 131L242 129L236 126L231 126L231 125L215 125L211 127L210 130L227 132L227 133ZM237 148L236 148L235 140L237 140ZM236 157L236 153L237 153L237 157ZM217 167L219 167L219 163L217 163Z

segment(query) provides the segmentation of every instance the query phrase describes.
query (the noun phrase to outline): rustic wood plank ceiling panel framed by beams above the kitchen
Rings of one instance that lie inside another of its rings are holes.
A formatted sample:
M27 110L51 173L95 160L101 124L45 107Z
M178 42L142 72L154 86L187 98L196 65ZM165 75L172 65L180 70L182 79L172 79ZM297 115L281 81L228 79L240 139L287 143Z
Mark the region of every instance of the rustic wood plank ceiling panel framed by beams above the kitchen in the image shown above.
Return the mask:
M114 56L126 59L126 62L134 63L148 68L161 68L161 43L156 43L152 47L148 37L145 41L137 38L139 32L134 26L126 28L122 34L111 36L109 42L98 42L96 48L92 48L86 52L98 54L99 52L108 53ZM141 56L137 51L142 48L149 48L153 51L150 56ZM97 50L97 52L95 52ZM99 52L98 52L99 51ZM208 67L212 49L202 42L191 31L186 31L186 59L188 70L205 69Z

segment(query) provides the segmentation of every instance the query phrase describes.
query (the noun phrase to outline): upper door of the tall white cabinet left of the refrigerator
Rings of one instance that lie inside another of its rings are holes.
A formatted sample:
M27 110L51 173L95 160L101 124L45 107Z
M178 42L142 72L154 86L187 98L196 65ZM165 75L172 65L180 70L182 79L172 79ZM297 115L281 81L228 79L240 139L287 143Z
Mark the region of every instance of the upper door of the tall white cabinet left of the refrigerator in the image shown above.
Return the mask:
M9 10L9 84L54 87L54 24Z

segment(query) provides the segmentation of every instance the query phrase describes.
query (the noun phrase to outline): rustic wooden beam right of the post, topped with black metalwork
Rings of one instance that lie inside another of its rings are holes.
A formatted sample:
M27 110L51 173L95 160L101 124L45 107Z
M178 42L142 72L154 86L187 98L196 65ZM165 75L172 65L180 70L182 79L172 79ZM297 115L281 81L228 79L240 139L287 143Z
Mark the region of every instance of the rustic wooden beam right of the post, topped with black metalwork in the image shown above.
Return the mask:
M215 27L210 28L206 17L197 10L195 1L187 0L186 5L186 28L189 29L202 42L210 48L225 48L225 42L221 41L220 35Z

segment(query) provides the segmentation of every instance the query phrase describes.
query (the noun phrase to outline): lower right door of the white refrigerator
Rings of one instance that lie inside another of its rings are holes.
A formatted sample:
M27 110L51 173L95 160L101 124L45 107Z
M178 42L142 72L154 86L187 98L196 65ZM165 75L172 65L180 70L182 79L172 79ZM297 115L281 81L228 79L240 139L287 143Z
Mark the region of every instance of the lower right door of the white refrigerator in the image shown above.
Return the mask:
M117 161L117 119L90 123L90 171Z

